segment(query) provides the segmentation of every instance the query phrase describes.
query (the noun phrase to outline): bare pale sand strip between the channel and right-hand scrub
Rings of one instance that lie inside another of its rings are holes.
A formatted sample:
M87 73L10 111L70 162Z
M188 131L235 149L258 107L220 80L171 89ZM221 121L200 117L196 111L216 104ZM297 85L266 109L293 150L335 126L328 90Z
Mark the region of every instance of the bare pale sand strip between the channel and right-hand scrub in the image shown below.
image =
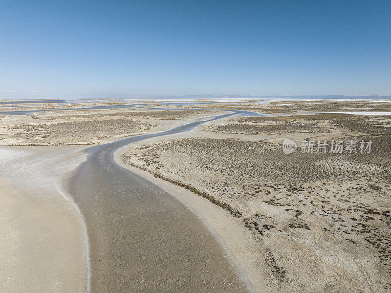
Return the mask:
M115 154L115 162L157 184L192 210L214 232L221 245L229 251L236 265L239 266L251 282L255 292L278 292L277 284L270 278L268 264L259 254L258 244L242 225L240 219L232 217L226 210L209 203L202 197L197 197L189 190L123 163L120 158L122 152L123 150L120 149Z

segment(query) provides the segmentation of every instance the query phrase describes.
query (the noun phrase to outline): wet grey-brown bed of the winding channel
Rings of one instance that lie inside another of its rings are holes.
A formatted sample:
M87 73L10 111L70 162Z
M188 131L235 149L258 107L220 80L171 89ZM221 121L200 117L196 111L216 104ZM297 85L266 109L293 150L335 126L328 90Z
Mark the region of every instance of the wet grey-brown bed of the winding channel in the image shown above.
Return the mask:
M66 190L88 229L91 292L250 291L228 252L190 209L113 160L113 153L131 142L184 132L206 121L93 147L69 178Z

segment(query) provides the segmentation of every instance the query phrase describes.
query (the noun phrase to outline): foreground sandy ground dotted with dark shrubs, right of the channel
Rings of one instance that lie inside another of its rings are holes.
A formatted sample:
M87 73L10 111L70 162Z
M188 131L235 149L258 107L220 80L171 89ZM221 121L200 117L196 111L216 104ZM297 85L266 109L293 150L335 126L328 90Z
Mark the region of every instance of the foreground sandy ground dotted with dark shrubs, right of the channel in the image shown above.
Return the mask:
M181 139L123 160L238 208L282 291L318 292L331 281L337 291L377 291L390 286L391 136L372 140L366 155L283 155L279 144Z

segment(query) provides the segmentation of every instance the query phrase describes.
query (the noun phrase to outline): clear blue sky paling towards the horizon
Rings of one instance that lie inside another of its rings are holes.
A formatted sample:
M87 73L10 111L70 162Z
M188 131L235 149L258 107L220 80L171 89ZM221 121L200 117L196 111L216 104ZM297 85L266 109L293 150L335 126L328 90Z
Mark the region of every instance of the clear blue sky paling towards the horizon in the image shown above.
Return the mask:
M391 1L0 0L0 97L391 95Z

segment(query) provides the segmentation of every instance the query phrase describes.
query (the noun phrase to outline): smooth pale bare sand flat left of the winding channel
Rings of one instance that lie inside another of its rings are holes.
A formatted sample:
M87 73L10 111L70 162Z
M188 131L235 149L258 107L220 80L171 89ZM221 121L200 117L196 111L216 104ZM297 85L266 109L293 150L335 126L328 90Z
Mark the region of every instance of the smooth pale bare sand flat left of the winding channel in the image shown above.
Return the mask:
M83 225L62 194L63 176L85 159L82 149L1 148L1 292L87 291Z

